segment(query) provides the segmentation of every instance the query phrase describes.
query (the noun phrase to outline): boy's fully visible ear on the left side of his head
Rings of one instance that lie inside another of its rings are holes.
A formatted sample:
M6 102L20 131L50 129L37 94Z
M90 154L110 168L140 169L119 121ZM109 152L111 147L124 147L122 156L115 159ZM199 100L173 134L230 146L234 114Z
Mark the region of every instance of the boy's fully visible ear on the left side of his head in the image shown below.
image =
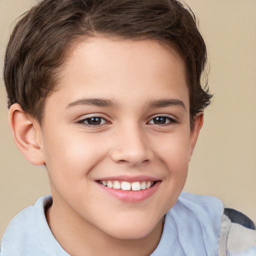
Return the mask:
M28 162L44 164L43 140L39 123L24 113L17 103L9 108L9 126L14 142Z

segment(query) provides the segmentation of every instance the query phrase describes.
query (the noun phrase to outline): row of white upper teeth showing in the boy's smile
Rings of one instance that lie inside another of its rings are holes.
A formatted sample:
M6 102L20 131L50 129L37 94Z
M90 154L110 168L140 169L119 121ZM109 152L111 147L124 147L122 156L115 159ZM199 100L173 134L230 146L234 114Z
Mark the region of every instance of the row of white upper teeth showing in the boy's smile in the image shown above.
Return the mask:
M120 190L131 190L131 191L139 191L145 190L152 187L156 181L153 180L143 180L143 181L119 181L119 180L97 180L97 182L103 186L113 189Z

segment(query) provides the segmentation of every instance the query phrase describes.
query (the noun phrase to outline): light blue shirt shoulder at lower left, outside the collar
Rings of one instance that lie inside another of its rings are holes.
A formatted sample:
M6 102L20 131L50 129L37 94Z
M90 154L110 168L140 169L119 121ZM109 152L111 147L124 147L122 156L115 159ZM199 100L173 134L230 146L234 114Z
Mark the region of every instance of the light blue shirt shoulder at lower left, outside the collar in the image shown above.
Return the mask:
M42 209L41 215L44 215L44 202L47 198L41 197L35 203L37 208ZM38 256L45 255L35 228L35 205L26 207L9 222L2 237L1 256L27 255L33 251L41 251Z

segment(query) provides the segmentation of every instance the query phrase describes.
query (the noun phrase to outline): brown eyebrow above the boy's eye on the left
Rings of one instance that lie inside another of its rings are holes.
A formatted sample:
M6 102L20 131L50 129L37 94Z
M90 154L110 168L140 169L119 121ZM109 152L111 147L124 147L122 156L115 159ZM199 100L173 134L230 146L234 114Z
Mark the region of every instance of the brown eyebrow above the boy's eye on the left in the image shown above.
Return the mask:
M106 98L81 98L70 102L66 108L77 106L77 105L90 105L90 106L111 106L116 107L117 103L112 99Z

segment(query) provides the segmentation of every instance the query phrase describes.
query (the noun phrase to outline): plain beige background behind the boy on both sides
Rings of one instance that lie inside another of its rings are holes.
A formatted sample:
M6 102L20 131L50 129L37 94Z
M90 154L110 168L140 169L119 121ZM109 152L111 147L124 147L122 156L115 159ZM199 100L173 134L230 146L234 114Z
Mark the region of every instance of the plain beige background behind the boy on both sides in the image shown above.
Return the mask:
M10 24L33 2L0 0L1 70ZM200 20L215 95L184 190L215 195L256 221L256 1L186 2ZM0 80L0 237L18 211L49 192L44 168L28 164L12 141Z

